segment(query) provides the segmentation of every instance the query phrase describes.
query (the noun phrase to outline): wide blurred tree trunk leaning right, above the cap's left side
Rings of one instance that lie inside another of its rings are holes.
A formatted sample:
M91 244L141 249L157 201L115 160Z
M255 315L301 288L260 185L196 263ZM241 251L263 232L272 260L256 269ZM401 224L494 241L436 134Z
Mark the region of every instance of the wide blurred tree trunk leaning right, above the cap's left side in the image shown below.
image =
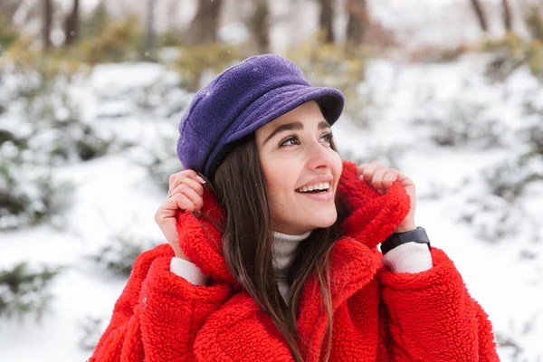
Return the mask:
M188 28L186 43L194 45L217 41L221 5L222 0L198 0L198 10Z

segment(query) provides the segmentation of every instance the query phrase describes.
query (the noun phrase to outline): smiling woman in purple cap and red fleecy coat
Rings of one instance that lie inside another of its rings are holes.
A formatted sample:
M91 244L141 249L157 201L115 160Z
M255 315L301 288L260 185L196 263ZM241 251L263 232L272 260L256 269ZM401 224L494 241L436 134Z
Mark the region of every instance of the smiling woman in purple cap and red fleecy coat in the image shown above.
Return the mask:
M341 161L343 103L277 55L195 94L155 217L168 243L136 260L90 361L498 360L415 227L413 182Z

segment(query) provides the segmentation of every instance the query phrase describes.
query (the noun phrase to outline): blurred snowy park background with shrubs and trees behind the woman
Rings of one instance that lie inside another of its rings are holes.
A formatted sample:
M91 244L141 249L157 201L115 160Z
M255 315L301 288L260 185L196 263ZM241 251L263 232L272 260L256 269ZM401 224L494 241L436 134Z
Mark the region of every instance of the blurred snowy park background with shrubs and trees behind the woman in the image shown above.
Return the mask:
M192 94L262 52L346 94L342 156L414 179L501 360L543 361L541 0L2 0L0 360L90 357Z

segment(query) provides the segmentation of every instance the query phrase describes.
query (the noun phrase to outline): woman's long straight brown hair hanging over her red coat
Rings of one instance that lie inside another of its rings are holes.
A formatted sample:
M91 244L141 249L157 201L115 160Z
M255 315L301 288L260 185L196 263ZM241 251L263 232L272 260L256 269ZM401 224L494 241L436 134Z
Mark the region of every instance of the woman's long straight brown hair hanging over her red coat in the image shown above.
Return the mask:
M336 150L332 144L332 148ZM211 186L224 209L223 252L233 277L263 311L270 315L285 338L291 354L298 362L302 356L297 333L297 312L302 288L315 274L323 295L323 307L328 313L328 337L324 346L326 358L332 341L332 300L330 296L329 251L340 236L339 217L328 228L316 229L300 243L289 268L291 285L289 305L281 297L272 263L273 230L254 133L238 141L233 150L217 167ZM338 200L336 201L338 206ZM339 205L344 210L345 205Z

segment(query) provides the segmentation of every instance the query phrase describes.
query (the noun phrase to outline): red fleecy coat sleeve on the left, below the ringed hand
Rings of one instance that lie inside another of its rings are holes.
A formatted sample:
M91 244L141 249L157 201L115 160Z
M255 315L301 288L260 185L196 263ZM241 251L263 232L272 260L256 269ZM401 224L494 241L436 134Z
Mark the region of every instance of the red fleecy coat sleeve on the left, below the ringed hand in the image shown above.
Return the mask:
M170 271L172 256L167 244L138 256L90 362L194 360L198 329L230 289L192 285Z

